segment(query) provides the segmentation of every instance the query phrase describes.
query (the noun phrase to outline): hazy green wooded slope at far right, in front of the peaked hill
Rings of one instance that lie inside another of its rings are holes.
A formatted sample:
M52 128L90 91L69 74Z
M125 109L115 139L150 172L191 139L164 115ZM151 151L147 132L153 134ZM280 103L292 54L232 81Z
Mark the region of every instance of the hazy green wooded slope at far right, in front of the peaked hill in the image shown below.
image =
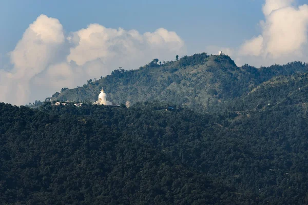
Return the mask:
M234 98L223 105L211 107L212 111L256 111L279 106L302 106L308 103L308 74L273 77L251 92Z

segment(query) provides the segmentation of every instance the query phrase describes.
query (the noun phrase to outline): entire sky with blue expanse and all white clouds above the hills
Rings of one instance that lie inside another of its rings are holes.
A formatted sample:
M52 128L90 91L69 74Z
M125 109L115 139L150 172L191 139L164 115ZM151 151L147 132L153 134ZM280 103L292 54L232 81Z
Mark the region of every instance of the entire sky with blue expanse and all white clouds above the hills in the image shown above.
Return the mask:
M236 2L236 3L235 3ZM222 50L238 66L307 62L308 0L0 2L0 101L25 105L118 67Z

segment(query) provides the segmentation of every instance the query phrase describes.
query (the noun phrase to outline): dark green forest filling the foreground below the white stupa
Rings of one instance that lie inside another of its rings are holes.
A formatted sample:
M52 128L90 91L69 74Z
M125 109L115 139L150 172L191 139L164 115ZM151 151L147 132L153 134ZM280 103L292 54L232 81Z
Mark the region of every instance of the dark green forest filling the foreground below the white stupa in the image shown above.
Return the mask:
M305 107L168 105L0 104L0 203L308 203Z

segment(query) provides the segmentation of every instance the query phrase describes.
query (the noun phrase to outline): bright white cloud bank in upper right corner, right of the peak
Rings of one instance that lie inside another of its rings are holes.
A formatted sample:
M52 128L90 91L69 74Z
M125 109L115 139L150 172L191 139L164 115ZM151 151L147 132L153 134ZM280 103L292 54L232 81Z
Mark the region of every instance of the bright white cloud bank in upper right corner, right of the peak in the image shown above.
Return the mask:
M259 23L261 34L226 53L238 65L269 66L294 60L307 61L308 5L294 4L294 0L266 0L262 7L265 19Z

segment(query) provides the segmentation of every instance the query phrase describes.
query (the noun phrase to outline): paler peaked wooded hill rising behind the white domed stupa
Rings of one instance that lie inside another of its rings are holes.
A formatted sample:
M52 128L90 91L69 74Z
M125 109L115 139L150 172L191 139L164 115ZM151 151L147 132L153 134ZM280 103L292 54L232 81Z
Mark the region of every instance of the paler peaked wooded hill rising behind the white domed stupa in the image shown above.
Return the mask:
M114 104L138 101L172 101L177 105L204 109L217 102L247 95L274 76L308 71L308 65L293 62L287 65L237 67L226 55L206 53L184 56L177 61L158 63L154 59L137 70L114 70L99 80L88 80L82 87L62 89L51 100L95 101L104 87Z

